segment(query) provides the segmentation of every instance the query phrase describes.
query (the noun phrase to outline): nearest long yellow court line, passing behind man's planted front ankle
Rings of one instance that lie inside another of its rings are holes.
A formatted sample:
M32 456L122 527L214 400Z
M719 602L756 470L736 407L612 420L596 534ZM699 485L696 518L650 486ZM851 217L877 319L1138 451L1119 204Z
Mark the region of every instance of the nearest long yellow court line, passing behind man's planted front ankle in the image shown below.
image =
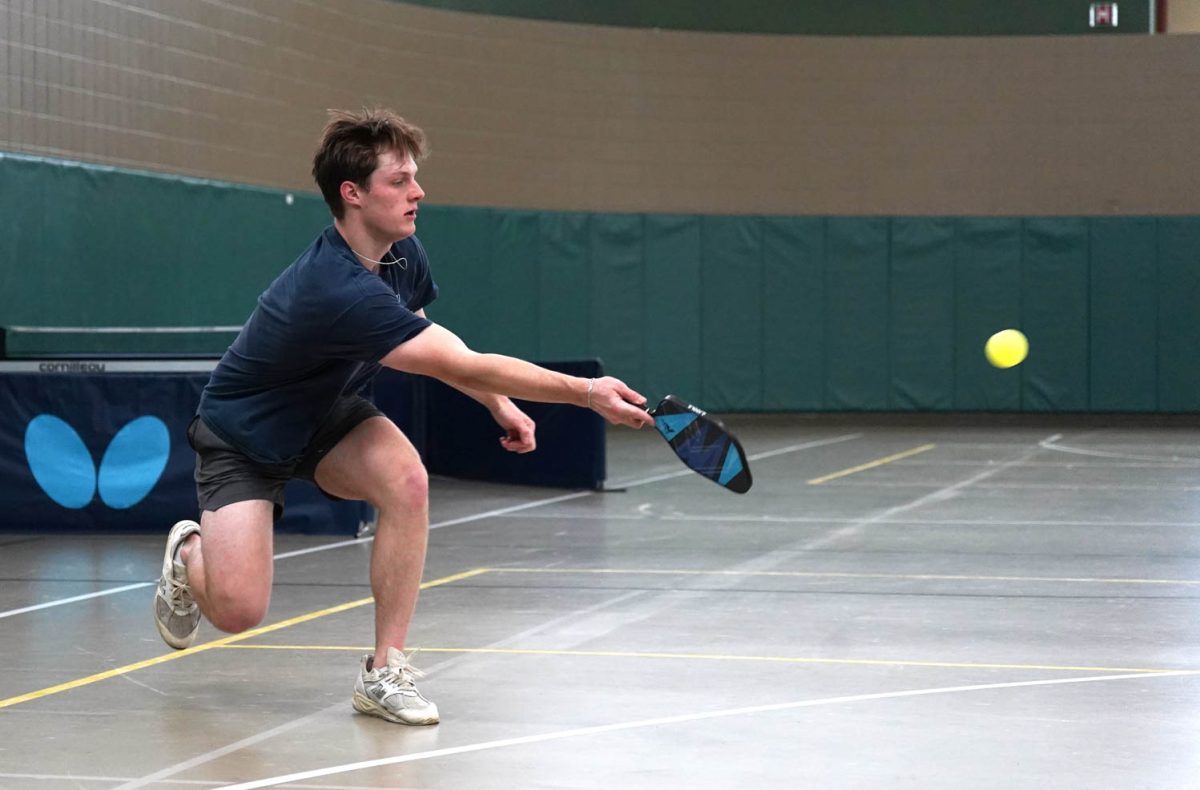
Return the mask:
M221 647L239 650L290 650L290 651L346 651L364 652L371 647L352 645L222 645ZM599 650L522 650L517 647L416 647L420 653L490 653L500 656L571 656L588 658L671 658L679 660L704 662L768 662L774 664L848 664L859 666L928 666L936 669L1036 669L1060 672L1141 672L1157 675L1162 672L1188 672L1200 675L1200 670L1189 669L1146 669L1129 666L1061 666L1056 664L988 664L972 662L914 662L905 659L869 659L869 658L802 658L794 656L730 656L724 653L662 653L643 651L599 651Z

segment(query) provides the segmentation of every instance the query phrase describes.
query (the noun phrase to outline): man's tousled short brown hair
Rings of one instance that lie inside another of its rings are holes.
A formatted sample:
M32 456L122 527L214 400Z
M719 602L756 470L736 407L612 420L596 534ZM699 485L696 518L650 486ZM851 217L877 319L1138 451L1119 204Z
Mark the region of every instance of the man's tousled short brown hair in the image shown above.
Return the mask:
M390 109L329 110L329 122L312 157L312 176L335 217L341 220L346 214L342 182L354 181L367 188L379 154L389 150L420 161L428 154L425 132Z

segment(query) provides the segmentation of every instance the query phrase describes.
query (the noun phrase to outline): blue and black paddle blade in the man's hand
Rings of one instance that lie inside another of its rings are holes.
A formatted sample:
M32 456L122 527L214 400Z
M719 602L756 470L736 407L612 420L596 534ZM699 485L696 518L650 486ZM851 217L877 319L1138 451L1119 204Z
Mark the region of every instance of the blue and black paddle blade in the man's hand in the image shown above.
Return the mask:
M664 397L650 417L688 468L736 493L750 490L745 450L721 420L674 395Z

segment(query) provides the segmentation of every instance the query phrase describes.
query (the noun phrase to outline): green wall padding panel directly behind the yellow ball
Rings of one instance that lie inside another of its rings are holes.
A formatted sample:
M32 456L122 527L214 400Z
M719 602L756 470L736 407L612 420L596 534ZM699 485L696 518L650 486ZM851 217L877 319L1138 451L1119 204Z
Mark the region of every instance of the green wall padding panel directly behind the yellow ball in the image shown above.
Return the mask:
M1021 369L996 370L983 346L994 333L1021 327L1020 220L955 221L954 294L954 408L1019 409Z

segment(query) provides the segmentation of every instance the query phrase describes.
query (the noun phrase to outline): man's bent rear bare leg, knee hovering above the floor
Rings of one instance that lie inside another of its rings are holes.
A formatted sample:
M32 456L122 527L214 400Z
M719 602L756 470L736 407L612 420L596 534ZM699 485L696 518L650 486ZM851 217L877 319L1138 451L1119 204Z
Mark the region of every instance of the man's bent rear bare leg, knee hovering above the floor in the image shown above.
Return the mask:
M274 505L235 502L200 516L200 534L179 550L200 611L229 633L253 628L271 599Z

